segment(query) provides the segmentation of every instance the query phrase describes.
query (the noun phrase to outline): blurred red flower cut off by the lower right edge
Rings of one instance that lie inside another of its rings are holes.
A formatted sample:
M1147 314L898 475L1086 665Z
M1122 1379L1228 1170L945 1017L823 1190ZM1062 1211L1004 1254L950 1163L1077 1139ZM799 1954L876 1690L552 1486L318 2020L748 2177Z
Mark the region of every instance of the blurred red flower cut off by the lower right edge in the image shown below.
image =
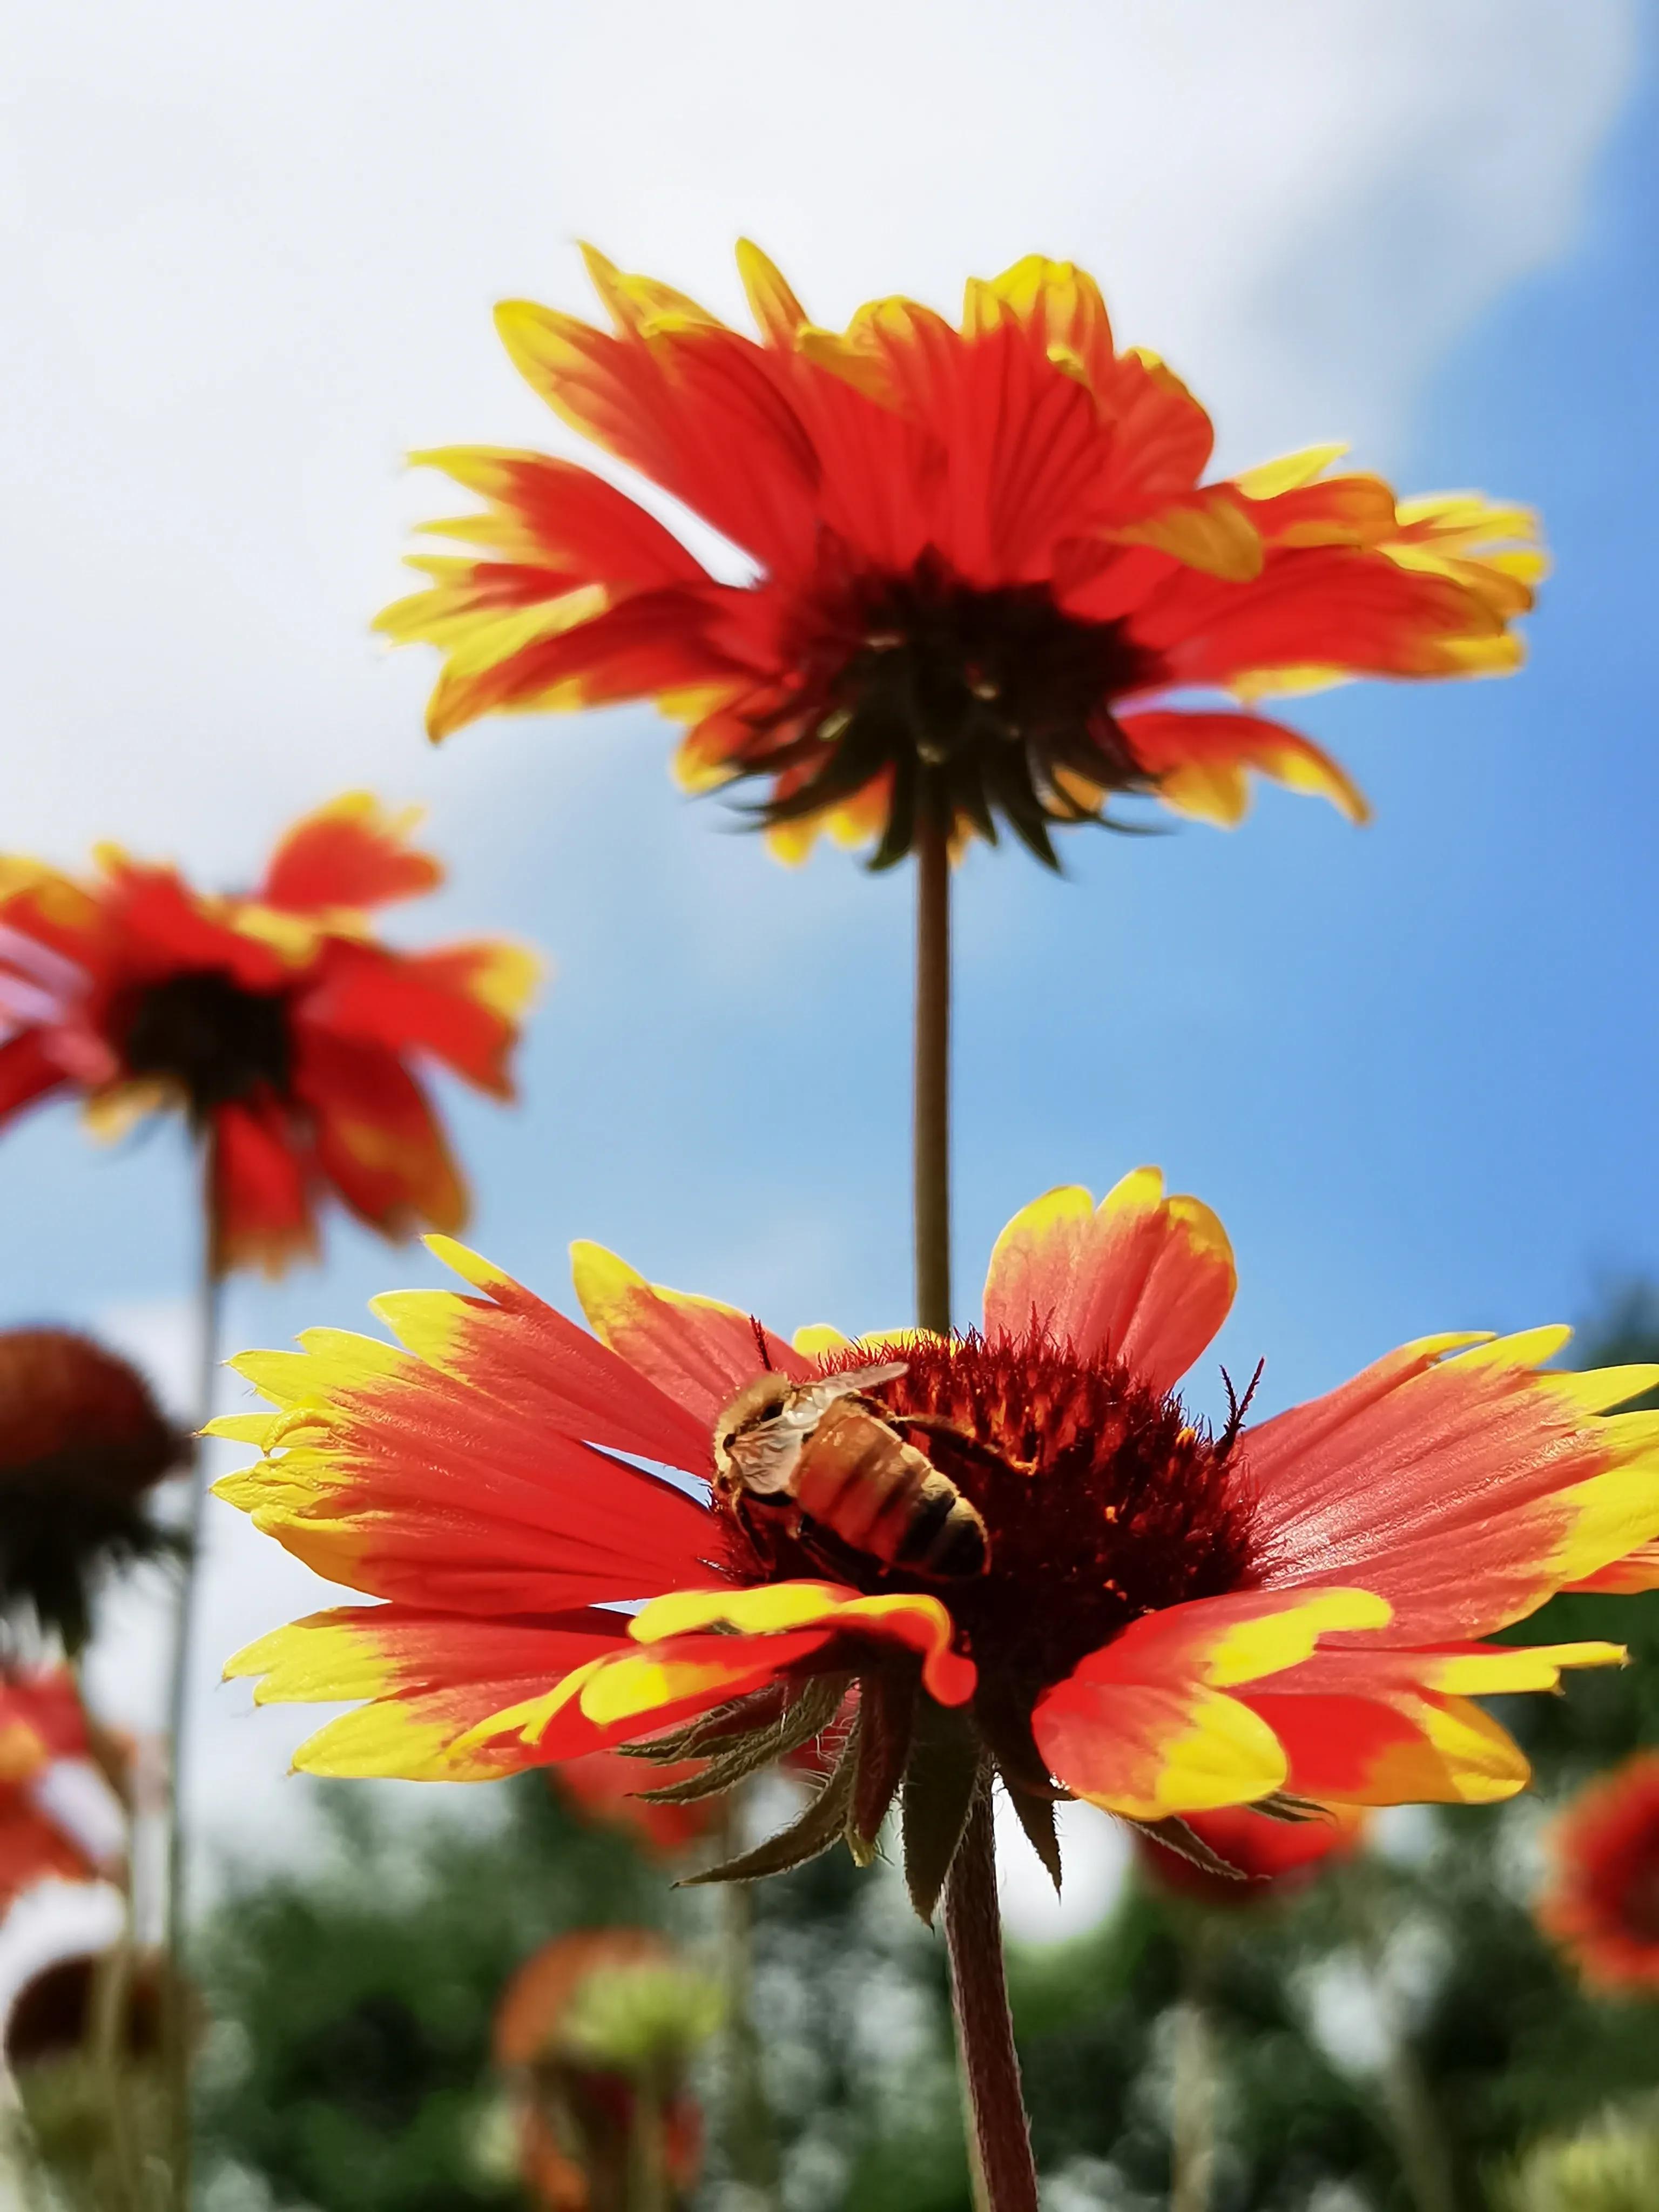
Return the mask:
M1551 1832L1542 1927L1593 1989L1659 1993L1659 1752L1599 1776Z

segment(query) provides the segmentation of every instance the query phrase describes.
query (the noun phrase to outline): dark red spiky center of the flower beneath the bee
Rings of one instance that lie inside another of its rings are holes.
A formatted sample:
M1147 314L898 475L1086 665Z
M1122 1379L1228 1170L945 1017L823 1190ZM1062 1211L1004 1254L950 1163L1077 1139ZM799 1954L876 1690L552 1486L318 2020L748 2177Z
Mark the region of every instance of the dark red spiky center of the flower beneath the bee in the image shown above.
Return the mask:
M872 1358L856 1349L825 1371ZM960 1336L909 1345L902 1358L905 1374L869 1396L978 1509L989 1568L920 1577L803 1517L770 1562L737 1531L741 1579L827 1573L869 1593L927 1590L949 1606L982 1699L1026 1712L1141 1615L1252 1586L1243 1449L1217 1442L1121 1360L1079 1360L1046 1336Z

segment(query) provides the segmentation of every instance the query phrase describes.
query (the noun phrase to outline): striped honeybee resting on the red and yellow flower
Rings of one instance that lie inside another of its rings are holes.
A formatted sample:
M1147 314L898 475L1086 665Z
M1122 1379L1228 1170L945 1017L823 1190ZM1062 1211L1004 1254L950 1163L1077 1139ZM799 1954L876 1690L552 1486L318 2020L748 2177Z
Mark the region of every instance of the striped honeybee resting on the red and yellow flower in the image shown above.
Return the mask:
M964 1582L991 1564L980 1511L867 1398L905 1360L818 1383L763 1374L714 1422L714 1489L739 1517L816 1522L885 1566ZM902 1416L900 1416L902 1422Z

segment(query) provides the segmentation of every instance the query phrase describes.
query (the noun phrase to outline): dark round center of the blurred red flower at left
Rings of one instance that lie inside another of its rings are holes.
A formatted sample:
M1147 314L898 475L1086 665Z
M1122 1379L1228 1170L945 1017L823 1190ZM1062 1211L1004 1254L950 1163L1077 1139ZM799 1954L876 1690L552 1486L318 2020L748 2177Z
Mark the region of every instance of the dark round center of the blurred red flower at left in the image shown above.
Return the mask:
M223 969L166 975L133 993L122 1055L128 1073L179 1084L197 1119L259 1091L283 1097L292 1075L288 993L248 991Z

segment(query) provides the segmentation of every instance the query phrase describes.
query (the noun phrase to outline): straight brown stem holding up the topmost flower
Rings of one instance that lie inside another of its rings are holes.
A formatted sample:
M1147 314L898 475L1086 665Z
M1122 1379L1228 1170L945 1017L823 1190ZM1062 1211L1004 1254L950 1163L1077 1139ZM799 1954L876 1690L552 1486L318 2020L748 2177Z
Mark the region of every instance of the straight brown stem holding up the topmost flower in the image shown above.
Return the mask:
M927 790L916 821L916 1321L951 1325L951 847Z

